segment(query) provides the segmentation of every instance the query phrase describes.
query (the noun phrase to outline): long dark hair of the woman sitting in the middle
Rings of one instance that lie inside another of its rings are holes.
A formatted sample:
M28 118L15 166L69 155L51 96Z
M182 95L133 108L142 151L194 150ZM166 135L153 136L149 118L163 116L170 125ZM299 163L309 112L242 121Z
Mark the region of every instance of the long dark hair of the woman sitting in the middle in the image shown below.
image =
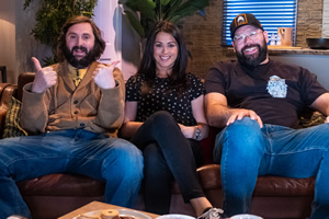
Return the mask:
M158 33L164 32L173 36L178 44L178 57L174 61L172 67L172 73L168 77L169 78L169 85L171 89L177 89L179 93L184 91L188 87L186 84L186 68L188 68L188 59L189 59L189 51L186 49L185 43L183 41L182 34L177 25L170 23L168 21L160 21L155 24L155 26L150 30L147 42L144 49L144 56L140 61L139 69L136 73L140 76L145 83L141 88L141 93L146 94L151 91L151 87L154 81L157 77L156 74L156 59L154 56L154 45L157 38Z

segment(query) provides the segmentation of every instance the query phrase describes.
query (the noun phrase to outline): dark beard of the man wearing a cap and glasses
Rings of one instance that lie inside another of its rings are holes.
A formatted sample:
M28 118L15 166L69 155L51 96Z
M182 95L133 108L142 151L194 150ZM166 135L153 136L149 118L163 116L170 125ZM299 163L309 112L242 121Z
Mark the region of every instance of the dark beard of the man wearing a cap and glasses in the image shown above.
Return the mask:
M246 56L243 51L250 47L258 47L259 53L251 56ZM253 69L258 67L261 62L263 62L266 59L266 57L268 57L268 46L265 41L261 45L252 44L252 45L245 46L241 49L241 51L237 53L238 61L249 69Z

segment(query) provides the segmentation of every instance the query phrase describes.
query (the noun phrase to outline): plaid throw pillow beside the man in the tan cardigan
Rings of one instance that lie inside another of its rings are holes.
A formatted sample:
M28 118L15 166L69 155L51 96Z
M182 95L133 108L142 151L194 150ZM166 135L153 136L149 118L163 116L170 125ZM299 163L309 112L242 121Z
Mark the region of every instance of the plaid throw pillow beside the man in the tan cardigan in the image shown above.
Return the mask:
M27 136L27 132L20 126L21 101L11 96L4 120L2 138Z

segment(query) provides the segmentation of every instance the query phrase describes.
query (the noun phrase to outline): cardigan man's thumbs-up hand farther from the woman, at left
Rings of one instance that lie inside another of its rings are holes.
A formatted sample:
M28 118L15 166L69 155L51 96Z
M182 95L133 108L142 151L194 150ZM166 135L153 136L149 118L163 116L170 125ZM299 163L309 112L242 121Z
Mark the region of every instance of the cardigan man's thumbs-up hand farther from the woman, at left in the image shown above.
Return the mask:
M35 67L35 78L31 91L43 93L57 82L57 73L52 67L42 68L39 61L34 57L32 57L32 61Z

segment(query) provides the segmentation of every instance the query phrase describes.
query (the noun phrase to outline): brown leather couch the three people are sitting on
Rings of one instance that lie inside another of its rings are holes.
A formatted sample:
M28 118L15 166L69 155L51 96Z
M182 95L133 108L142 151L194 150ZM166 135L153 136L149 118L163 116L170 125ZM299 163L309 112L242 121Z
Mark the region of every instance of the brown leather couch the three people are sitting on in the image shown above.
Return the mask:
M0 134L2 136L4 116L10 96L21 100L22 87L34 79L34 73L20 74L18 85L0 83ZM205 165L197 169L202 187L216 207L223 205L220 166L212 164L212 149L218 130L212 129L207 139L202 141ZM239 183L239 182L236 182ZM310 212L315 178L287 178L260 176L253 194L251 214L264 218L306 218ZM75 174L49 174L19 182L20 192L32 211L34 219L50 219L65 215L92 200L103 200L104 183ZM144 209L143 196L135 206ZM194 216L190 204L184 204L174 184L172 189L171 212Z

